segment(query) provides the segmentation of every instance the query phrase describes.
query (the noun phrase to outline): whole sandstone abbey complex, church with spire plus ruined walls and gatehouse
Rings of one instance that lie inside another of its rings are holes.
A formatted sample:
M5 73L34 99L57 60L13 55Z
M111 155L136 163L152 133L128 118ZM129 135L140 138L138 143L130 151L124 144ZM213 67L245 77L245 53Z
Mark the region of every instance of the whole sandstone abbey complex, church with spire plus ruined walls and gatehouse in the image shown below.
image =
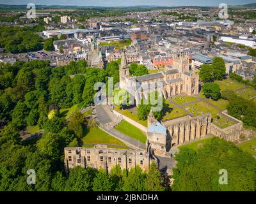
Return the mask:
M129 66L125 53L123 53L120 64L120 88L126 89L132 94L136 102L148 96L149 92L143 89L145 84L162 83L161 93L166 99L180 94L188 96L198 94L198 75L189 69L188 56L179 54L173 58L173 66L166 67L162 72L130 77ZM161 157L165 157L167 160L173 159L173 150L177 149L179 145L195 142L209 135L219 136L232 142L237 140L241 135L243 123L225 111L221 114L230 118L234 125L223 129L219 128L212 122L211 113L202 113L194 117L186 115L158 121L151 110L147 118L147 128L142 130L147 135L145 149L134 149L134 147L129 150L115 149L108 148L107 145L95 145L92 148L66 147L66 170L68 171L74 166L82 166L83 168L90 166L110 171L116 164L119 164L123 170L130 170L138 165L141 169L148 171L151 162L155 162L159 167L159 158ZM122 117L122 115L118 115L118 117ZM140 124L136 121L129 120L129 122L140 128Z

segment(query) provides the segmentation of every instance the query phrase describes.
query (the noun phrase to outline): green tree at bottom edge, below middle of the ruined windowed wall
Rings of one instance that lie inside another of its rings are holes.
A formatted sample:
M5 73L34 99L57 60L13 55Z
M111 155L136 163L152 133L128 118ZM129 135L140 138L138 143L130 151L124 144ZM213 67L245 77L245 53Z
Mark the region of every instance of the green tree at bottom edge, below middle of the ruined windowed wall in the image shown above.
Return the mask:
M104 170L99 170L93 179L93 191L112 191L113 182L108 173Z

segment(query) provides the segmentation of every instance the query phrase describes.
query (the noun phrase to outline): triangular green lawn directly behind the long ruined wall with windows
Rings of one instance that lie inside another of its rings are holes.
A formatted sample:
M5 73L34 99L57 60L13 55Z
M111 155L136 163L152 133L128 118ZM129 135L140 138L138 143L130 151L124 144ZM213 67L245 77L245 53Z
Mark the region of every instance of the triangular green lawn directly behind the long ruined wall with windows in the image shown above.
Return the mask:
M109 135L108 133L102 131L95 124L90 128L90 131L82 138L83 143L92 144L92 143L106 143L114 145L122 145L127 147L123 142Z

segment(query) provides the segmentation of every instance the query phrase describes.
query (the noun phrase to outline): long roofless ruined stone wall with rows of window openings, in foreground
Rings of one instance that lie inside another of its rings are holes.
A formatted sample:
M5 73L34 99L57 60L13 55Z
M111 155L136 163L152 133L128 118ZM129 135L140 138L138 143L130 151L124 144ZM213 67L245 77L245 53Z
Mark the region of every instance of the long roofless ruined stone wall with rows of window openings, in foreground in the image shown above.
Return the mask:
M92 148L65 147L65 169L66 171L75 166L83 168L91 167L104 169L108 172L120 165L122 170L130 170L139 165L143 170L148 171L150 159L145 151L112 149L106 145L96 145Z

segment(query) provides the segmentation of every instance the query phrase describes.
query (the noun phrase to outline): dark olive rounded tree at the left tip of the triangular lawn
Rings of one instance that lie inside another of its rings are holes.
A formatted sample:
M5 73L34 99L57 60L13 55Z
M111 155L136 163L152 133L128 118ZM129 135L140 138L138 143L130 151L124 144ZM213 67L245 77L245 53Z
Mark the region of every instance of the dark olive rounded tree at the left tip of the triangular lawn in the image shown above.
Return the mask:
M86 133L86 119L80 112L75 112L72 114L70 122L68 122L68 129L72 131L76 136L82 138Z

